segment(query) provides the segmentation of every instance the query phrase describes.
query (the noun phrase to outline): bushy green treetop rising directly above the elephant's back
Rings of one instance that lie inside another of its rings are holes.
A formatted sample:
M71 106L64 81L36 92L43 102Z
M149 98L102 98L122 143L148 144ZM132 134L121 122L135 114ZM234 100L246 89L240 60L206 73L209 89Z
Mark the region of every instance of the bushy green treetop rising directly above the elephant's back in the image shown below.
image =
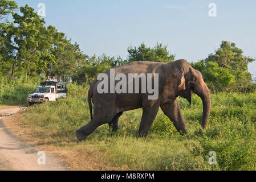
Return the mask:
M156 62L172 62L175 56L167 51L167 46L157 43L154 48L145 46L142 43L138 48L128 48L127 63L133 61L156 61Z

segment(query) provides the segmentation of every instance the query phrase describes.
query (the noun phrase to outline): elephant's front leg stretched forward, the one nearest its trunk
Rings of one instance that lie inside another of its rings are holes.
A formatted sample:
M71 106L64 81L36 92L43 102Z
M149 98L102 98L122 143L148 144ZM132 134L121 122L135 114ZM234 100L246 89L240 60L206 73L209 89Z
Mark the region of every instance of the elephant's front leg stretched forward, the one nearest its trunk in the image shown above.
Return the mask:
M181 134L186 133L186 123L185 119L181 113L180 105L178 105L177 99L173 102L167 102L160 105L164 114L168 116L170 121L173 122L174 126Z

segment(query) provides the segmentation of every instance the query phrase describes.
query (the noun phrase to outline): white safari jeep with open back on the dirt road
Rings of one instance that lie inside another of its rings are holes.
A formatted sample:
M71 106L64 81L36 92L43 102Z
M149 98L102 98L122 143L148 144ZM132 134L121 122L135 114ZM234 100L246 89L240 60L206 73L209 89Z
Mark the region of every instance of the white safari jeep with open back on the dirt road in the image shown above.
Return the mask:
M27 104L56 101L57 98L67 97L66 82L43 81L36 86L34 93L27 97Z

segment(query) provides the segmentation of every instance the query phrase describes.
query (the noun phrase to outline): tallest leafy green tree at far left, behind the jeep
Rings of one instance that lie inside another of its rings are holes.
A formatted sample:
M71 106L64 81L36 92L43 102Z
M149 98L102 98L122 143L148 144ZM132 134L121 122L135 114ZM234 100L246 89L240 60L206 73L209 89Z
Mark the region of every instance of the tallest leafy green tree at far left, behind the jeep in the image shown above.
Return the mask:
M15 71L21 75L37 76L47 71L47 64L55 63L51 51L62 42L64 34L55 27L44 26L32 7L21 7L22 15L13 14L14 22L7 24L1 32L3 46L0 52L4 61L11 64L11 80Z

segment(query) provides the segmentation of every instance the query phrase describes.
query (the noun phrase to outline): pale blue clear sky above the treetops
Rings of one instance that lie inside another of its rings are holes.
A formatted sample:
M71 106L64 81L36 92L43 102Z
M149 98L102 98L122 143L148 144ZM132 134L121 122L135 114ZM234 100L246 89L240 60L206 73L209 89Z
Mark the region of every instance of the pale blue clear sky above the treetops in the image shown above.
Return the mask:
M127 57L129 46L168 45L176 59L197 61L222 40L234 42L244 55L256 57L256 1L84 1L19 0L37 11L46 5L46 24L64 32L87 55ZM216 3L217 16L208 15ZM256 61L249 65L256 74Z

